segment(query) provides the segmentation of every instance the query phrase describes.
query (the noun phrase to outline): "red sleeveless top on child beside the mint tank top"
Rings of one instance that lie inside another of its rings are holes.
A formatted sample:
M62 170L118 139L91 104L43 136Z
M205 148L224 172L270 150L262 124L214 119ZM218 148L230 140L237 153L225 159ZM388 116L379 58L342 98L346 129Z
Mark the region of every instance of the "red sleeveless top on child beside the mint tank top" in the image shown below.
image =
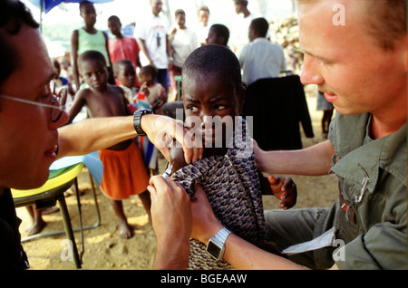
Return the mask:
M122 39L109 40L109 55L111 56L112 65L121 59L128 59L133 62L134 67L138 67L138 55L141 52L136 39L126 36ZM141 87L141 83L136 75L135 87Z

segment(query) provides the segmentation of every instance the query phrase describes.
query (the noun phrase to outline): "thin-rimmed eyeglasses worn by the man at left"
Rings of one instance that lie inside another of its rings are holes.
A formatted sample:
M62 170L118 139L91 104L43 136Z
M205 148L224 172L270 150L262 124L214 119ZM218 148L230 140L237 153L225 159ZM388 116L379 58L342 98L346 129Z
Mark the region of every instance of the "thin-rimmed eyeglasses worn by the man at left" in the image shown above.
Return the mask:
M62 89L58 91L58 93L56 93L56 85L55 85L55 82L53 81L50 82L50 91L53 94L53 97L50 99L52 103L51 105L36 102L36 101L29 101L29 100L25 100L21 98L16 98L12 96L2 95L2 94L0 94L0 97L8 99L8 100L12 100L12 101L18 101L18 102L23 102L26 104L35 105L35 106L51 108L51 120L53 122L57 122L58 120L60 120L61 115L63 114L63 110L65 110L65 101L66 101L66 96L68 94L68 91L65 87L63 87Z

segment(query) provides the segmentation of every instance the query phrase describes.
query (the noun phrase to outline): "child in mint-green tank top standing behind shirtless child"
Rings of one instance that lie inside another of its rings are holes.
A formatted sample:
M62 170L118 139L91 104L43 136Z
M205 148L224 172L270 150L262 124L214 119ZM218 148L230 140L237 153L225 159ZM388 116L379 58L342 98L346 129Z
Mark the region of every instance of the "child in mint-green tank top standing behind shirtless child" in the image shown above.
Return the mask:
M93 3L90 1L81 1L80 14L83 17L85 25L73 31L71 36L71 53L73 57L73 79L77 91L81 87L79 71L78 71L78 57L85 51L95 50L103 54L107 69L109 72L109 80L114 84L112 62L108 50L108 35L104 32L95 29L96 12Z

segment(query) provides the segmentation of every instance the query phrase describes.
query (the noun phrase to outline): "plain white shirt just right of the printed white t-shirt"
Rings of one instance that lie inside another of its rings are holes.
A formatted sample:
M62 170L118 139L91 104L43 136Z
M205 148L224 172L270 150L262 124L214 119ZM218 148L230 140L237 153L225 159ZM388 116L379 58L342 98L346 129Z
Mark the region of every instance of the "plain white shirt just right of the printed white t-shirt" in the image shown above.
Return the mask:
M197 35L189 28L178 29L177 32L170 36L170 44L173 47L174 65L182 67L189 54L199 48Z

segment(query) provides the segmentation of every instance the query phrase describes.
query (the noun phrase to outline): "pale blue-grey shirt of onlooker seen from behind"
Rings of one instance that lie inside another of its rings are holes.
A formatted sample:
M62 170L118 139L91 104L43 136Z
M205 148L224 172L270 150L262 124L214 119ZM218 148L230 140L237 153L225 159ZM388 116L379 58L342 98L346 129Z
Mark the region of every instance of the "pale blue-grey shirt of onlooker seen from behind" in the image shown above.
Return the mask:
M242 82L249 86L263 78L276 78L287 69L283 48L266 38L257 38L242 48L239 54Z

